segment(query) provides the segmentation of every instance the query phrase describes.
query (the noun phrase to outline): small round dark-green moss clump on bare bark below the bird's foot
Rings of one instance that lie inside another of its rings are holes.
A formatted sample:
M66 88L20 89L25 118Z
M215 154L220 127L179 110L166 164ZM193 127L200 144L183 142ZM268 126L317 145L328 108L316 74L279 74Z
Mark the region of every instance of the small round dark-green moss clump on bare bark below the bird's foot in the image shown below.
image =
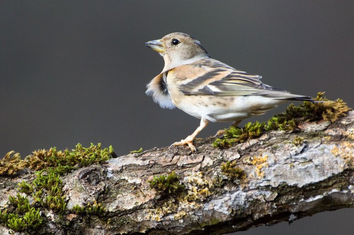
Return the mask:
M179 183L179 178L174 171L168 175L154 176L148 183L150 188L155 189L163 196L179 194L184 190L184 185Z

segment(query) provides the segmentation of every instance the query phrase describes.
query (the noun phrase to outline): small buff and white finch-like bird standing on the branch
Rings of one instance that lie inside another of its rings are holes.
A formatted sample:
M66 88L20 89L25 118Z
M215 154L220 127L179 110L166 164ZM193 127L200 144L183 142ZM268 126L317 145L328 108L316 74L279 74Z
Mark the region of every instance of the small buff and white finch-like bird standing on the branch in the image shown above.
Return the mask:
M202 44L185 33L175 32L146 46L163 56L162 72L147 84L146 94L162 108L175 107L201 119L200 126L187 138L172 145L188 145L209 122L234 122L259 116L287 101L313 101L271 87L261 76L212 59Z

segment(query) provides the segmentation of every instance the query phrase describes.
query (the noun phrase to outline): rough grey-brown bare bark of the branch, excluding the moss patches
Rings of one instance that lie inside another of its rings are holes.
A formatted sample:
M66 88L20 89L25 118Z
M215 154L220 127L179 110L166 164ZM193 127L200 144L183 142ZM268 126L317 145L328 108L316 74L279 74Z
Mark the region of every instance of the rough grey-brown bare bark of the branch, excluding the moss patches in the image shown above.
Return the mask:
M299 128L266 132L229 149L213 148L210 137L195 141L197 153L154 148L78 169L63 178L68 211L97 201L106 212L84 218L68 212L63 219L43 212L46 223L36 233L223 234L353 207L354 111L335 123ZM227 161L246 177L222 172ZM184 190L164 194L150 188L153 176L173 171ZM17 183L33 178L29 170L0 178L0 206L16 195ZM8 232L0 225L0 234Z

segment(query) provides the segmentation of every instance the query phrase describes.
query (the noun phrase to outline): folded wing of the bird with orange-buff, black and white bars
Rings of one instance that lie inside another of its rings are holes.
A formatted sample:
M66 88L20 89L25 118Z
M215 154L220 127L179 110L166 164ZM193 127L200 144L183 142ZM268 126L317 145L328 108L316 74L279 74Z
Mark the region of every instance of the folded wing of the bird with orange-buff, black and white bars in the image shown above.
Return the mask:
M236 70L211 58L175 68L174 74L180 79L179 89L184 95L263 95L271 98L274 96L276 99L292 98L288 97L287 91L264 84L261 76Z

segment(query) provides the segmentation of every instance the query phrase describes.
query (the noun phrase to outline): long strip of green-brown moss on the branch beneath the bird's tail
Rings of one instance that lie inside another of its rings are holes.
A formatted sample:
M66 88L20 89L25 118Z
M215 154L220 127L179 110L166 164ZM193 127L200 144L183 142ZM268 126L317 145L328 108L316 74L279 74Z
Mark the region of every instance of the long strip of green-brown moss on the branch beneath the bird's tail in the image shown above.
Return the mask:
M305 101L298 106L290 104L285 112L274 115L266 123L247 123L244 129L231 126L225 134L213 142L213 147L229 148L233 143L242 143L256 138L265 131L294 131L300 122L325 120L334 122L352 110L341 99L328 101L324 92L319 92L314 102Z

